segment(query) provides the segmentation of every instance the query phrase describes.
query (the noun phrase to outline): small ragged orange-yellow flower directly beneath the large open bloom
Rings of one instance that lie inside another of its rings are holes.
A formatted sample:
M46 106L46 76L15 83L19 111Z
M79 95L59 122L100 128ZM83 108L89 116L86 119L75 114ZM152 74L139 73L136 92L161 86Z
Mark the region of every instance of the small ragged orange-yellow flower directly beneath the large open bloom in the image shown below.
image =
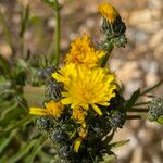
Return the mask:
M73 120L76 120L79 124L82 124L83 127L86 127L86 111L84 111L80 106L76 106L74 110L73 110L73 115L72 115L72 118Z

